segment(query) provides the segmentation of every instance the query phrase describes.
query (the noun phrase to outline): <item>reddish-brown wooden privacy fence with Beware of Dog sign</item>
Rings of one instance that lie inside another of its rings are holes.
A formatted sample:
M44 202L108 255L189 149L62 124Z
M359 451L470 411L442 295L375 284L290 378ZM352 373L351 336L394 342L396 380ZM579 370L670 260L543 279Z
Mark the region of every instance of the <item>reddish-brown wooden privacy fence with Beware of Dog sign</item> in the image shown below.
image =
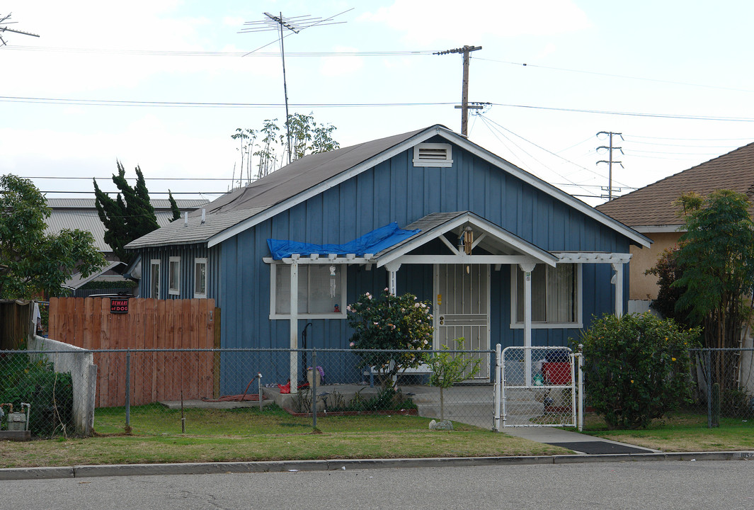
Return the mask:
M109 297L50 300L50 338L98 349L213 349L219 339L214 300L131 298L127 313L112 313ZM216 335L217 333L217 335ZM219 345L217 345L219 347ZM125 404L126 353L95 352L97 407ZM130 404L211 398L213 352L130 353Z

